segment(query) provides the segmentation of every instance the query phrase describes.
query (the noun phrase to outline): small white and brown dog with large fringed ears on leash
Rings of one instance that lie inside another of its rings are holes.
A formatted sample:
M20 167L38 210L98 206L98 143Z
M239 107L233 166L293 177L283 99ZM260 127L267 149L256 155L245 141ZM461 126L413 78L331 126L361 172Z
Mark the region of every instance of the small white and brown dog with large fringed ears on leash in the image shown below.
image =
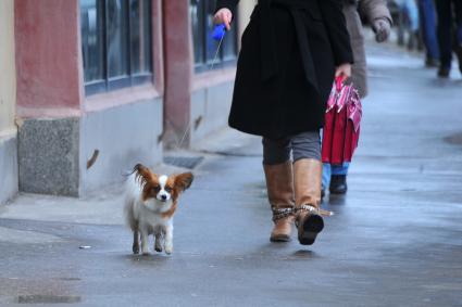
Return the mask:
M149 254L148 236L154 234L154 250L173 252L173 215L178 197L192 183L191 172L170 177L153 174L148 167L137 164L127 180L125 217L133 230L133 253ZM164 241L164 242L163 242ZM164 244L163 244L164 243Z

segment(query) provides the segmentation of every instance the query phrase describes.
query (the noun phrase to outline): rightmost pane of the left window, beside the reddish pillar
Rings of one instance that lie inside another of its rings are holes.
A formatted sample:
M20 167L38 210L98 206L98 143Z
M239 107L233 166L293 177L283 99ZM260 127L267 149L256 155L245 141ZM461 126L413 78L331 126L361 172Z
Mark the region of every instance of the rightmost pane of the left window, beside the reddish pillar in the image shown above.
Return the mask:
M151 72L150 0L130 0L132 74Z

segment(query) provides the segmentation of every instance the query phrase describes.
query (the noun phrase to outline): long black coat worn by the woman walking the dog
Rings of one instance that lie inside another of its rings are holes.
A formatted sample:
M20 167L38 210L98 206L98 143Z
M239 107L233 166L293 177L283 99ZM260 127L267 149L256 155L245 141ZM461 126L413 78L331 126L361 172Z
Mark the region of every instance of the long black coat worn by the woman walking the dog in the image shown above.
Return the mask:
M341 0L260 0L241 40L229 126L271 139L322 128L335 67L353 62Z

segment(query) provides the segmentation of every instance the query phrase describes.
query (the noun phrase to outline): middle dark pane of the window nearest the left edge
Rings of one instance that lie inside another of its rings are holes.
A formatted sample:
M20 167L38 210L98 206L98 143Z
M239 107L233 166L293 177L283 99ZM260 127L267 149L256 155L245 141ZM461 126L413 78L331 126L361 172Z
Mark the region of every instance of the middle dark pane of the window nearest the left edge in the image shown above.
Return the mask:
M107 1L108 75L109 78L128 75L126 1Z

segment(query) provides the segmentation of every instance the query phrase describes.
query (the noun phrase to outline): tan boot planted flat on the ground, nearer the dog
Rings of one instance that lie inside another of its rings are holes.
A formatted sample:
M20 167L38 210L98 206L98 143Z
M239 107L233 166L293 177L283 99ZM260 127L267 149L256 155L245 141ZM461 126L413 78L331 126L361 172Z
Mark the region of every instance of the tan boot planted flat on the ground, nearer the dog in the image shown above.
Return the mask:
M274 228L270 241L288 242L294 223L294 176L290 162L263 165Z

